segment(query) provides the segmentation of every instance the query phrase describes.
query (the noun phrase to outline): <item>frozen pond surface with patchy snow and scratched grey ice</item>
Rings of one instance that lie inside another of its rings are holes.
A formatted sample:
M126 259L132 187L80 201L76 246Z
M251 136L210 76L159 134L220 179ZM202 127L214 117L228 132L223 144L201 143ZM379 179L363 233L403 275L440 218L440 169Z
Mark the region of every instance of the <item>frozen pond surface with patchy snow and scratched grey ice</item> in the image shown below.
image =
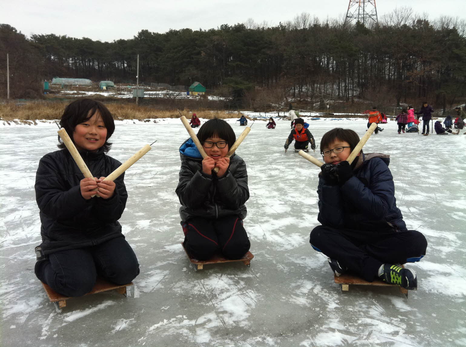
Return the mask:
M243 127L229 122L238 136ZM317 143L333 127L360 136L366 129L365 120L309 123ZM278 120L275 130L256 121L237 151L249 174L244 226L251 267L195 272L179 244L175 194L178 147L188 135L179 120L129 121L117 123L109 155L124 161L158 140L125 177L129 199L120 222L141 266L134 296L70 299L57 313L34 275L41 242L35 171L56 150L57 127L0 126L0 344L465 346L466 136L398 135L394 121L384 127L364 151L391 154L397 205L408 228L429 242L425 258L408 265L418 274L409 299L396 287L350 286L342 293L334 283L326 258L308 243L318 225L319 170L293 150L284 153L289 121Z

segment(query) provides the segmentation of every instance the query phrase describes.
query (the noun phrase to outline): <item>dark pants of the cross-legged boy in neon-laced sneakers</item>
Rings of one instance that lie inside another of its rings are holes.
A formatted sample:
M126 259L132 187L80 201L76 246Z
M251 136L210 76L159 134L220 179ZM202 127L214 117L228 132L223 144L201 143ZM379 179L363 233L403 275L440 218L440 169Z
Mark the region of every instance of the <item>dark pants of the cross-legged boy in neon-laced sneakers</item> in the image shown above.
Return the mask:
M338 260L342 266L369 282L377 278L382 264L419 261L427 248L424 235L416 230L384 234L370 243L350 234L349 230L342 232L320 225L311 231L309 242L315 250Z

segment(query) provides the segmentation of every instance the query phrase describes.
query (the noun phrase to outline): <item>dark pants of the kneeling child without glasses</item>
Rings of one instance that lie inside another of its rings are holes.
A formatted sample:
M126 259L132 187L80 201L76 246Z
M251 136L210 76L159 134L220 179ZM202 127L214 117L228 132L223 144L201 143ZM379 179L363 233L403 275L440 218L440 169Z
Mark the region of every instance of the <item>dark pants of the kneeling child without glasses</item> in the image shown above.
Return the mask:
M35 264L35 275L55 292L82 296L91 291L97 275L116 284L130 283L139 274L136 254L123 237L100 245L49 254Z

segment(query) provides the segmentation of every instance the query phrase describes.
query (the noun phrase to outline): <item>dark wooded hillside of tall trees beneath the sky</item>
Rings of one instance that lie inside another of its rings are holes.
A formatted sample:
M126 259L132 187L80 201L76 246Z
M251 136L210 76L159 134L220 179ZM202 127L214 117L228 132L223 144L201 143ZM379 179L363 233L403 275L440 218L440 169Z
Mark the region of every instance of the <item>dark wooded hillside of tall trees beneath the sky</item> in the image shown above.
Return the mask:
M26 38L1 24L0 51L2 97L5 53L14 76L12 97L38 96L40 80L54 76L134 83L137 54L144 83L188 86L197 80L243 105L260 92L271 103L358 97L399 105L428 99L438 108L466 95L465 21L431 23L411 13L394 12L369 28L321 23L303 13L274 27L141 30L133 39L113 42L55 34Z

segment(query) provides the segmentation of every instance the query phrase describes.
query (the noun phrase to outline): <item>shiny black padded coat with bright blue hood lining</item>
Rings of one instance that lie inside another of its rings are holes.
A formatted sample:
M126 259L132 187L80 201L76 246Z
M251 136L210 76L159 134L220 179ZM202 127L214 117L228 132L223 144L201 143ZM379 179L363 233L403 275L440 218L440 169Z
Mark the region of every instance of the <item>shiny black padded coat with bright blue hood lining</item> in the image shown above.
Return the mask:
M181 220L192 217L217 219L235 215L244 219L247 214L244 205L249 199L247 171L244 160L239 155L230 157L226 173L217 178L215 173L202 172L202 157L191 139L180 147L181 169L176 188L181 207Z

